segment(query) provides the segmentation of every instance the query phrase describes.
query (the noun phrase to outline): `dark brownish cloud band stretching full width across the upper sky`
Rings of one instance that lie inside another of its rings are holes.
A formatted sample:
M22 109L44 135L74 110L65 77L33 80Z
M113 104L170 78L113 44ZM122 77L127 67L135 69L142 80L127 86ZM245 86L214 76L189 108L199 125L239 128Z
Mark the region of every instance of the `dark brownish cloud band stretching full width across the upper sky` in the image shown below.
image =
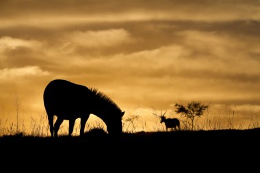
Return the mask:
M244 52L250 50L250 46L259 44L259 22L257 21L226 21L226 22L201 22L201 21L150 21L150 22L127 22L127 23L96 23L92 25L71 25L70 27L61 27L60 29L40 29L35 27L15 27L0 29L2 36L11 36L14 38L36 39L47 42L49 46L64 46L64 37L73 34L75 31L105 31L108 29L125 29L131 38L138 40L134 44L120 44L109 48L89 49L88 47L77 47L77 51L81 54L95 55L112 55L116 53L131 53L146 49L157 49L160 46L168 46L170 44L190 43L195 46L196 42L192 42L192 36L180 35L184 31L200 31L211 32L216 36L229 36L235 38L236 42L242 42ZM230 41L230 40L227 40ZM184 43L183 43L184 42ZM208 54L194 47L187 46L187 50L193 51L198 55ZM210 45L209 45L210 46ZM249 49L248 49L249 48ZM257 54L257 52L252 52Z

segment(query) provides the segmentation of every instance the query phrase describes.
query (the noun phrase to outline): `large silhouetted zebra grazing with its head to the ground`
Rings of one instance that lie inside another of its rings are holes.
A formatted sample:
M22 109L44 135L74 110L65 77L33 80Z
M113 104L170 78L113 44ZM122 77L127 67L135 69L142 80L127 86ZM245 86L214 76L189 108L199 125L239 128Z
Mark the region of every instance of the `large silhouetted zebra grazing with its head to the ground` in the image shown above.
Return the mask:
M43 98L52 137L57 136L64 120L69 120L68 135L71 135L77 118L81 118L80 135L83 135L90 114L105 122L109 134L122 133L122 116L125 111L121 111L112 99L96 89L57 79L47 85ZM54 126L53 116L57 116Z

